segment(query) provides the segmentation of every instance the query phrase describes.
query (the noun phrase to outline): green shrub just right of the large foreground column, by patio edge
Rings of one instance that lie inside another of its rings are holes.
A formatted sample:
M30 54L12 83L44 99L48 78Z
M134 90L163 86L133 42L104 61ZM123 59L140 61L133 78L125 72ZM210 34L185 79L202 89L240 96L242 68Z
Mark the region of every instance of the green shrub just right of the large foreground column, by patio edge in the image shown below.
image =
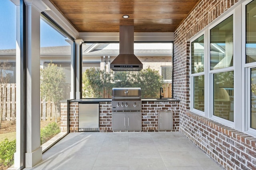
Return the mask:
M52 137L60 133L60 127L56 122L49 123L46 127L41 129L41 145L46 143Z

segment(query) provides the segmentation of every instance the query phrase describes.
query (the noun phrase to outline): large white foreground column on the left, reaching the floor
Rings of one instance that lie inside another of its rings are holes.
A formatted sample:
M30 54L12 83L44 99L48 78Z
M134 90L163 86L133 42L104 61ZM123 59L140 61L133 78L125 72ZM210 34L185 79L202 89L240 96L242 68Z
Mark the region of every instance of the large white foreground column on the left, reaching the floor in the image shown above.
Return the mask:
M26 4L26 153L25 167L42 160L40 146L40 13L42 1L25 0Z

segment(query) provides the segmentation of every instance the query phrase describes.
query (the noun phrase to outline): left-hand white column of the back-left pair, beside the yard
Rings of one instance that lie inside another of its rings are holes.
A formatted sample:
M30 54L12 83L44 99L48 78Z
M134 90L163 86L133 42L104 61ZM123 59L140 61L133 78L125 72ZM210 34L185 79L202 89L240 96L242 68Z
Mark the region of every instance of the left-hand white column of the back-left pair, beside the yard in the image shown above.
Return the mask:
M75 98L75 91L74 91L74 86L75 86L75 83L74 83L74 73L76 70L74 70L75 68L75 63L74 63L74 42L71 41L70 39L66 39L66 41L68 43L70 43L71 45L71 53L70 53L70 61L71 61L71 76L70 76L70 99L74 99Z

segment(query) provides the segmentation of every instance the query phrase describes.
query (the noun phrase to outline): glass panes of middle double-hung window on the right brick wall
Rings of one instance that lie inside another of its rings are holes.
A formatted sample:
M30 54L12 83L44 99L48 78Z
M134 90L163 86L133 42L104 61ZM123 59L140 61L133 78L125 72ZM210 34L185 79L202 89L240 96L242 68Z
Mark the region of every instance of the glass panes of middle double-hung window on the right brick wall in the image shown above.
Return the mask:
M233 15L210 29L213 115L234 121Z

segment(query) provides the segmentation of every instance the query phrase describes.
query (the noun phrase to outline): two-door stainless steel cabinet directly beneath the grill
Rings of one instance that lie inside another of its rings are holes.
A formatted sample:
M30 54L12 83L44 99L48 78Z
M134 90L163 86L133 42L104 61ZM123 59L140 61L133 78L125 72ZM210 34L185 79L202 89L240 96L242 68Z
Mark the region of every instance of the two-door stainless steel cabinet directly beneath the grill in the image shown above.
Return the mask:
M113 131L141 131L141 112L112 113Z

